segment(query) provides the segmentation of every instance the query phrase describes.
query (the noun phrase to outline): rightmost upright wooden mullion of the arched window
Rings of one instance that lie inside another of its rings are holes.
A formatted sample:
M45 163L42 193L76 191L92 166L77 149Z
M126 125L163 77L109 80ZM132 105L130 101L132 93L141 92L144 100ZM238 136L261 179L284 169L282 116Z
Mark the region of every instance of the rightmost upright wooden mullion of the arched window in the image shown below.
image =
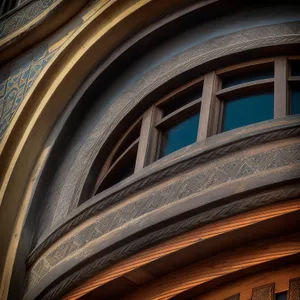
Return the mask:
M275 59L274 72L274 119L287 115L288 62L286 57Z

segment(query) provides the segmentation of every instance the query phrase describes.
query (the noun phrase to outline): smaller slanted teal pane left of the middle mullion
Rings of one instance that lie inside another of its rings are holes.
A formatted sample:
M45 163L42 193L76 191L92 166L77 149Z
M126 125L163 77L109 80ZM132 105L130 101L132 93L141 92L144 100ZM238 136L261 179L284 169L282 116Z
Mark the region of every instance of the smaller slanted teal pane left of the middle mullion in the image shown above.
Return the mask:
M164 131L160 157L195 143L197 140L198 124L199 114L197 113Z

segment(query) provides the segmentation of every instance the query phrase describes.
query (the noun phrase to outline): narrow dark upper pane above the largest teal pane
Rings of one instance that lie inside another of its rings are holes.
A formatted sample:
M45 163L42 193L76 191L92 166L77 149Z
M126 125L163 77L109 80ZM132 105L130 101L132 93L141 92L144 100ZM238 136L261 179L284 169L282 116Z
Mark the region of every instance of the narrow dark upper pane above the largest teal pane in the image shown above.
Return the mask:
M274 77L274 71L272 69L260 70L255 71L255 73L245 73L245 74L238 74L231 77L225 77L222 80L222 89L260 79L267 79Z

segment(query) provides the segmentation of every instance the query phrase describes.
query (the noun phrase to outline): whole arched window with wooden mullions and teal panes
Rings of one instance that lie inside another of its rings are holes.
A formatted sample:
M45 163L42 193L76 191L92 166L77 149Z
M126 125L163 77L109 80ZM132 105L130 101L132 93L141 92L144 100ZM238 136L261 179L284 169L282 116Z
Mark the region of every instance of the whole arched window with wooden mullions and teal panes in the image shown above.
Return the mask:
M94 194L211 135L300 114L300 57L276 57L213 71L164 96L120 137Z

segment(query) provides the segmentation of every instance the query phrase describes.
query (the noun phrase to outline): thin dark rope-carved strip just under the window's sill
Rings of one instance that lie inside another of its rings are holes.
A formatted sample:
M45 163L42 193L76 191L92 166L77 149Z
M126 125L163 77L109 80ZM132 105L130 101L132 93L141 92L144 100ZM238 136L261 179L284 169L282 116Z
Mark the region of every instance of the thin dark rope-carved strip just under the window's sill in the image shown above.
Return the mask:
M109 195L103 199L99 199L99 201L95 205L81 212L80 215L75 216L74 218L66 222L64 225L62 225L60 228L58 228L58 230L54 231L51 235L49 235L47 239L31 253L31 255L28 258L28 264L31 265L45 249L47 249L52 243L54 243L57 239L63 236L66 232L72 230L78 224L87 220L89 217L99 213L108 206L111 206L121 201L122 199L125 199L126 197L136 193L139 190L142 190L143 188L149 185L155 184L166 178L175 176L180 172L187 171L191 168L194 168L195 166L204 164L207 161L222 157L228 153L232 153L234 151L245 149L254 145L266 143L268 141L275 141L299 135L299 123L293 124L293 126L292 128L275 130L274 132L268 132L257 136L252 136L247 139L238 140L235 143L230 143L229 145L225 145L223 147L217 147L213 151L201 153L196 157L183 160L177 163L176 165L172 165L168 168L162 169L160 170L160 172L150 174L149 176L138 180L129 186L126 186L119 192L113 193L112 195ZM246 168L246 166L244 166L244 168ZM224 176L222 176L222 178L223 177Z

